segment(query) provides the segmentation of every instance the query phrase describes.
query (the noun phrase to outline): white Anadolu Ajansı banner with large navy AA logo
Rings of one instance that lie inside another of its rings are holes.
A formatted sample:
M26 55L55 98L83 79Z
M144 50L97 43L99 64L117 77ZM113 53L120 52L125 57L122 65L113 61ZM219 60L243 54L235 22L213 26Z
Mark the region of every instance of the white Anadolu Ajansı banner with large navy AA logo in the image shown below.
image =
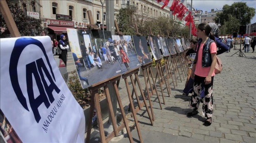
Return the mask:
M22 142L84 142L84 112L56 66L49 36L1 38L0 73L0 108Z

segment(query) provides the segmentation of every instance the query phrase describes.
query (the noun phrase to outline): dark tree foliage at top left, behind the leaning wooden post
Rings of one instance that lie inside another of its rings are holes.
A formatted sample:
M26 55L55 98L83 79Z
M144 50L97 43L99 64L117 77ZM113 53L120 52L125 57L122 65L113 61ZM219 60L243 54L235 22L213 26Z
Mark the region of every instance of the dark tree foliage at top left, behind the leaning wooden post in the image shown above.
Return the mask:
M20 7L20 4L17 1L6 0L6 2L7 2L7 5L9 6L11 15L13 16L13 19L16 23L16 26L21 36L41 36L42 35L44 29L41 26L42 21L40 19L35 19L25 14L25 12ZM31 5L31 3L28 3L27 0L20 0L20 2L26 3L27 5ZM35 0L35 2L37 1ZM39 3L37 2L36 5L39 5ZM5 23L4 17L1 13L0 13L0 20L1 20L0 27L2 29L5 29L4 32L0 32L0 37L10 37L10 32Z

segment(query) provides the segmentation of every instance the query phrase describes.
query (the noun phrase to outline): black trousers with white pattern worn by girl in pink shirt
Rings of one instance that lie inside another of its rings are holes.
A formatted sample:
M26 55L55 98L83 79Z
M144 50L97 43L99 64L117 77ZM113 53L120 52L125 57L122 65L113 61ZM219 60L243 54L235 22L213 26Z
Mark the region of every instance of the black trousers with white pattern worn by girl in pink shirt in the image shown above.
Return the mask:
M213 77L210 84L204 85L205 77L199 77L195 75L194 78L194 91L192 92L191 100L189 102L189 107L193 110L198 111L200 103L200 93L204 87L204 100L203 100L203 115L204 117L213 116Z

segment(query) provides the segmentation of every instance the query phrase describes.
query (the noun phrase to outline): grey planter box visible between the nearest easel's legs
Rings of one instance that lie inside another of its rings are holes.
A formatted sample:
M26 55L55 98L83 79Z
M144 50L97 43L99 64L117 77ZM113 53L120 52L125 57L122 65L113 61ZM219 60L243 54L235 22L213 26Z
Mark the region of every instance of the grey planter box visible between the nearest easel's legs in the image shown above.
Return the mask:
M109 116L108 112L108 107L107 107L107 99L104 98L100 101L100 105L101 105L101 116L102 119L104 120L105 118L107 118ZM84 109L84 114L85 114L85 133L87 132L87 128L88 128L88 119L89 119L89 114L90 114L90 108L91 107L87 107ZM94 124L92 124L92 127L97 125L97 120L95 121Z

